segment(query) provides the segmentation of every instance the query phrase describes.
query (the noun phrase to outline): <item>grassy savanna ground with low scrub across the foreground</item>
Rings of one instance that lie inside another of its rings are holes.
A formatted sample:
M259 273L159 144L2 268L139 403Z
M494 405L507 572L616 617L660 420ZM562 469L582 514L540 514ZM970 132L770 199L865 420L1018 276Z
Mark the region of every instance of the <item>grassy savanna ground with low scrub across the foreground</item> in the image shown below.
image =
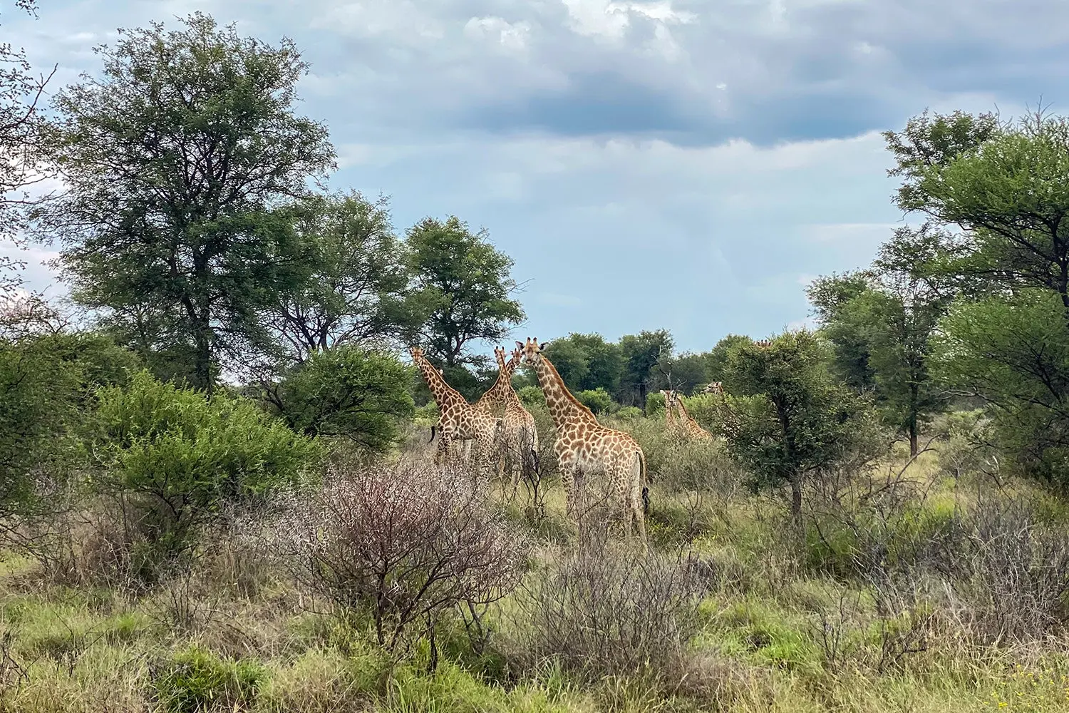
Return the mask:
M372 615L308 586L248 513L187 571L110 580L113 506L81 503L37 557L0 559L0 710L1069 709L1069 513L1001 478L960 423L938 423L915 461L896 450L811 476L799 524L719 445L617 420L650 462L651 552L594 528L583 556L533 410L544 512L529 489L505 502L500 483L479 506L529 544L518 586L479 609L480 626L440 611L433 656L422 629L378 646ZM413 427L391 459L430 478L425 440ZM358 482L372 467L334 470Z

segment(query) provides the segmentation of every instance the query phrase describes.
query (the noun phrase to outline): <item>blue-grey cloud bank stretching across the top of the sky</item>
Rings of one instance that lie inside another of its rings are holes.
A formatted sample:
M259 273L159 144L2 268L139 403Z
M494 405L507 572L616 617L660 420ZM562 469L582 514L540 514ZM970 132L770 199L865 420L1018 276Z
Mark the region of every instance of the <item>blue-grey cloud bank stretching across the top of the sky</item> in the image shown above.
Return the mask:
M1020 105L1040 94L1057 102L1067 89L1069 5L1058 0L663 0L611 3L608 14L607 1L570 3L572 12L563 0L167 7L204 7L266 40L292 35L321 89L351 99L344 114L334 103L326 118L369 133L537 129L774 143L898 126L960 94ZM153 4L133 3L122 24L158 16ZM677 17L666 19L665 9ZM103 30L93 17L107 17L107 5L74 11L84 21L64 24ZM26 20L18 28L36 29ZM53 43L50 53L84 64L87 48ZM331 103L310 97L321 104Z

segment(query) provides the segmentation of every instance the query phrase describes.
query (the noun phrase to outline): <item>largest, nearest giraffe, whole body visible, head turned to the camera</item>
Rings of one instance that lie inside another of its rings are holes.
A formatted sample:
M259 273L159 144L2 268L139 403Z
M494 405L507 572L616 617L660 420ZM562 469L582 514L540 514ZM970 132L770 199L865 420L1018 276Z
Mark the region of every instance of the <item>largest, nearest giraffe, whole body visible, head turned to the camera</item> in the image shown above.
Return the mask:
M639 539L645 542L649 491L641 446L629 434L598 422L593 413L564 386L557 369L543 356L537 338L528 337L526 344L516 342L516 347L523 353L524 363L534 368L549 416L557 427L554 450L560 465L568 514L573 520L578 518L575 499L586 491L585 476L603 475L624 512L628 537L636 528Z

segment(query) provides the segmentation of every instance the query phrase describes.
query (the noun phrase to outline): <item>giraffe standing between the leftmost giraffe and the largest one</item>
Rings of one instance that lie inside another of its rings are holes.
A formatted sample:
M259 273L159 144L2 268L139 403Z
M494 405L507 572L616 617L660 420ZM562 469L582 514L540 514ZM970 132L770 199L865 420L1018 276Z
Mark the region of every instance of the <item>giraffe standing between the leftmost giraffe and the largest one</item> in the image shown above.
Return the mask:
M500 346L494 348L494 357L497 359L497 381L475 405L494 416L502 417L502 429L498 432L500 443L497 444L497 475L505 476L505 465L508 461L512 474L511 497L515 497L524 466L538 467L538 428L534 425L534 417L524 408L512 388L512 374L520 366L523 353L513 350L512 358L508 361L505 360L505 355L506 351Z

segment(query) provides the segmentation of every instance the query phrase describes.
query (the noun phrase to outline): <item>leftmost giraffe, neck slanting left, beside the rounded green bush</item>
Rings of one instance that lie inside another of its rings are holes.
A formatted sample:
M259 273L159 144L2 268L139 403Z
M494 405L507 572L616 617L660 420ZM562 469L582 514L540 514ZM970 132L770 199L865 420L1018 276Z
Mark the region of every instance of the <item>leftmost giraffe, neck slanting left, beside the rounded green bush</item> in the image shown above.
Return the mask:
M476 475L486 475L501 419L476 408L456 389L446 384L441 370L427 360L423 350L414 346L409 353L431 389L434 402L438 404L438 449L434 453L434 463L443 463L449 453L450 441L474 440L475 448L470 455L477 460Z

